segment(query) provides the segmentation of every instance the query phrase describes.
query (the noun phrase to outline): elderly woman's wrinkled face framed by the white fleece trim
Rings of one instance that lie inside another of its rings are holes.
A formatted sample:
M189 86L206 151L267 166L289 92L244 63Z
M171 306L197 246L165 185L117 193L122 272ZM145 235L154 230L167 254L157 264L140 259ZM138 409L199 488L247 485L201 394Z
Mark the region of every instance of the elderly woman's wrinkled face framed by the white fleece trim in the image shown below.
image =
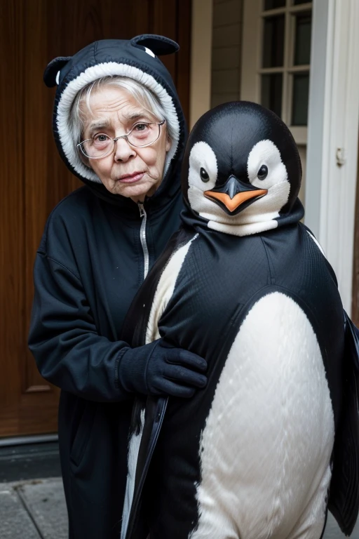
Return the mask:
M81 112L86 118L83 140L97 133L111 138L125 135L140 121L162 121L155 118L139 105L130 93L116 86L104 86L90 97L91 111L81 103ZM136 148L126 139L115 142L114 152L101 159L89 159L90 167L113 194L143 201L151 197L163 178L165 156L170 149L165 124L161 126L159 138L151 146Z

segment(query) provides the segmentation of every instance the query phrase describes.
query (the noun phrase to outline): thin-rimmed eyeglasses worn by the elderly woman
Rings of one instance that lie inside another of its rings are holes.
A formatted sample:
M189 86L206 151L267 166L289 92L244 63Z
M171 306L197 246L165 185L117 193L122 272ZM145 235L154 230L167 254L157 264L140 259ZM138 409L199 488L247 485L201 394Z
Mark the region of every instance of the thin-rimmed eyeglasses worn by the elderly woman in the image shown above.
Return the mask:
M135 124L126 135L116 138L111 138L104 133L97 133L94 137L79 142L77 147L88 159L101 159L111 154L114 151L115 142L120 138L126 139L131 146L144 148L156 142L163 124L165 124L165 120L150 123L142 121Z

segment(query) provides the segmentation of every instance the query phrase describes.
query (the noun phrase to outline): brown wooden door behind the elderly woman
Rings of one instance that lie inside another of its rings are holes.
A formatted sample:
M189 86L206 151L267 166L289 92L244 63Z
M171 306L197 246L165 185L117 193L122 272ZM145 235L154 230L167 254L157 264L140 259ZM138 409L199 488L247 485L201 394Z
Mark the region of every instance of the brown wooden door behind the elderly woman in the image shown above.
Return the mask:
M58 390L27 350L32 267L46 218L79 187L57 155L55 89L42 81L55 56L97 39L163 34L181 46L164 57L189 116L191 0L0 2L0 437L56 432Z

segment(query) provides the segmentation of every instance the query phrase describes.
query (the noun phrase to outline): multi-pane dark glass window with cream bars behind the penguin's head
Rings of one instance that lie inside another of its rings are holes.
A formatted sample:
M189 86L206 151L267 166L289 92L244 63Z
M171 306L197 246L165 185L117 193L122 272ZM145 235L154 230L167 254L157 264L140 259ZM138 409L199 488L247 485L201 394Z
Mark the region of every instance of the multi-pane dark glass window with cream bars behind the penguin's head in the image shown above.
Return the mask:
M262 61L259 68L254 67L259 75L256 81L253 77L253 84L259 82L257 98L290 126L300 144L306 143L312 5L310 0L263 0L258 13L262 18L258 36ZM275 9L278 11L268 11Z

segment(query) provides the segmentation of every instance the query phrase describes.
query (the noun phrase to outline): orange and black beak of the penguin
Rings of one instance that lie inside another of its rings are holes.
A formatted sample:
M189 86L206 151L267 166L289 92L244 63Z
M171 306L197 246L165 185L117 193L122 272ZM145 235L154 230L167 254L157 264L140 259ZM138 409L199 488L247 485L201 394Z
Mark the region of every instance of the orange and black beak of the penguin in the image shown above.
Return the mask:
M205 191L203 194L229 215L237 215L257 199L264 197L267 192L267 189L258 189L250 183L242 182L236 176L230 175L224 185Z

